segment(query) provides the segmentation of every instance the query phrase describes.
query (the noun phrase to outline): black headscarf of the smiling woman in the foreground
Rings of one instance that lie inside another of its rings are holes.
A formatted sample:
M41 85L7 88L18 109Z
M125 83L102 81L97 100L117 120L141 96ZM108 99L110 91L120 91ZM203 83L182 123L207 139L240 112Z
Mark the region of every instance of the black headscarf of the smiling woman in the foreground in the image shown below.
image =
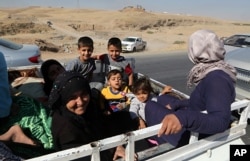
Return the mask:
M82 90L91 95L88 81L79 73L65 71L57 76L49 96L49 107L58 109L65 106L72 94Z

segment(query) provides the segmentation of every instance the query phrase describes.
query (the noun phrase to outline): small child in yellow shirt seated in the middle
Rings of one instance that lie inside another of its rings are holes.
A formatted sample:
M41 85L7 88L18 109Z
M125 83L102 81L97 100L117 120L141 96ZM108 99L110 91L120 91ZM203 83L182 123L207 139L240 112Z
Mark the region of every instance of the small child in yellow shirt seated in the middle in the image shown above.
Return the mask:
M130 104L130 100L126 96L130 90L128 86L122 84L122 72L118 69L109 71L107 84L108 86L104 87L101 93L104 100L108 102L109 110L116 112L125 109Z

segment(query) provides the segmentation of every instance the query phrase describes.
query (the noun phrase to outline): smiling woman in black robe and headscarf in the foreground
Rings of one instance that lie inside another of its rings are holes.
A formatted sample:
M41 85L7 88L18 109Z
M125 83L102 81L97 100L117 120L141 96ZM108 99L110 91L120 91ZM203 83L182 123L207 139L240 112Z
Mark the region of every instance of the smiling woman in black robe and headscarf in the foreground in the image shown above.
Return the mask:
M49 97L49 107L53 113L54 147L58 151L133 130L129 128L131 126L129 119L122 120L130 117L128 112L102 115L97 101L92 99L88 81L76 72L66 71L56 78ZM101 158L112 160L113 154L114 151L104 151L101 153ZM124 154L124 148L118 146L115 158L125 157Z

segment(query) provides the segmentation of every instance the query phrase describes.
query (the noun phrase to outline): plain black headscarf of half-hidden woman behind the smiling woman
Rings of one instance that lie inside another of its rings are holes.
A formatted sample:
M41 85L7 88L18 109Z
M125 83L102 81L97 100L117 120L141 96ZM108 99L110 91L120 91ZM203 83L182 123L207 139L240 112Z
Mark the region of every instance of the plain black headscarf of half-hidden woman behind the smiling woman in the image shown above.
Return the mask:
M47 96L50 94L51 88L53 86L53 81L49 79L49 73L48 73L49 68L52 65L59 65L62 68L64 68L61 63L59 63L57 60L54 60L54 59L49 59L49 60L46 60L45 62L43 62L42 66L41 66L41 73L43 75L43 79L45 82L43 90Z

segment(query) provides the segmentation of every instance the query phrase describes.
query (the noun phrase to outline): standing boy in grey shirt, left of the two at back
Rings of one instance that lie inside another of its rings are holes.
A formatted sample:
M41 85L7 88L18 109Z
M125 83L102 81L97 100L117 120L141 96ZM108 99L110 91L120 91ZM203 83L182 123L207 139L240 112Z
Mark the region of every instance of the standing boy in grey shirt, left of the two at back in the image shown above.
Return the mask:
M94 51L94 42L90 37L84 36L78 39L79 57L69 62L66 66L67 71L75 71L82 74L89 82L91 88L101 90L101 82L92 82L94 70L96 70L95 59L92 56Z

